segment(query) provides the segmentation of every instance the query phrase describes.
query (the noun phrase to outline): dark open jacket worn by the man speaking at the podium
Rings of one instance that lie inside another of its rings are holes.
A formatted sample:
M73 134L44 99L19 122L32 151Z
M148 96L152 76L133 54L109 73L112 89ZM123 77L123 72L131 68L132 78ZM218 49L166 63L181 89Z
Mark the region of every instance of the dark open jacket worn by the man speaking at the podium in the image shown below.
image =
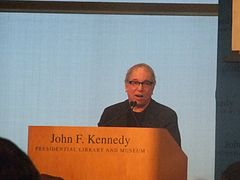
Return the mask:
M104 109L98 126L127 127L131 112L128 100L114 104ZM151 99L146 108L144 119L139 122L140 127L166 128L176 142L181 146L178 129L177 114L167 106Z

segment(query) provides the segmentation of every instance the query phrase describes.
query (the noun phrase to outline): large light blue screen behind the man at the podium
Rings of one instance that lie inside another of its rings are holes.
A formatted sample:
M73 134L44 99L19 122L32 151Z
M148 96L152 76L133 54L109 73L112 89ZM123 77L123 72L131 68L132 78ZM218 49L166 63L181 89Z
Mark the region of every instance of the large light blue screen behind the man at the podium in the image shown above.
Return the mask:
M144 62L178 114L188 179L214 179L217 20L0 13L0 136L26 151L29 125L96 126Z

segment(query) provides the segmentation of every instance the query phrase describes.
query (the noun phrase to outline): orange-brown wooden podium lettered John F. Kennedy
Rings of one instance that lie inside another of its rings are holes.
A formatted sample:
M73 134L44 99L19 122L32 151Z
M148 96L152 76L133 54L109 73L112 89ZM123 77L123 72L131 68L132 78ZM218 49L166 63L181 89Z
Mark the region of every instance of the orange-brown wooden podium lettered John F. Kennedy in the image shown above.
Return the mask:
M65 180L186 180L187 157L166 129L29 126L40 173Z

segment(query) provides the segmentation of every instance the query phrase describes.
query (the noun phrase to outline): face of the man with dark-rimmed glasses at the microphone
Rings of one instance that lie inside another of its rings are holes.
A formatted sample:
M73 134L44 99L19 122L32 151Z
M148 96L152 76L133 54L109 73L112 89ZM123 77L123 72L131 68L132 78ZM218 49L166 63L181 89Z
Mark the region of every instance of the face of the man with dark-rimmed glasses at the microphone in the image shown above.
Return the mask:
M149 104L154 86L151 73L144 67L133 70L128 82L125 82L129 101L136 101L138 107L146 107Z

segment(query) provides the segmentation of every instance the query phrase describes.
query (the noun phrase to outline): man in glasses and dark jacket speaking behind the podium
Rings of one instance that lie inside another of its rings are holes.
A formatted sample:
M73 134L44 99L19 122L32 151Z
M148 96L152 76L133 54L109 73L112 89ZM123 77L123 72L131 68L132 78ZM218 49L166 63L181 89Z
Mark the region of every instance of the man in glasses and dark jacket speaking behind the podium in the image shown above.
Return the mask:
M105 108L98 126L166 128L181 146L177 114L152 99L155 84L155 73L149 65L130 67L125 77L128 99Z

